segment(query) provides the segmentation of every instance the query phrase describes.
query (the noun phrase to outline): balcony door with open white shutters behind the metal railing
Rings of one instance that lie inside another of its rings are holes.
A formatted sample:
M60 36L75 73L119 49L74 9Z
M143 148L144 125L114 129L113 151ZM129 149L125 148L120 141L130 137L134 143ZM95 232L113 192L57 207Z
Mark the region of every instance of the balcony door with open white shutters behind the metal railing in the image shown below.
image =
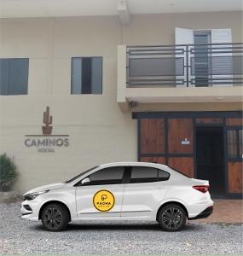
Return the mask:
M176 68L179 68L179 57L182 58L178 53L184 52L183 86L232 85L231 29L192 30L176 27L175 41ZM178 79L182 78L176 76Z

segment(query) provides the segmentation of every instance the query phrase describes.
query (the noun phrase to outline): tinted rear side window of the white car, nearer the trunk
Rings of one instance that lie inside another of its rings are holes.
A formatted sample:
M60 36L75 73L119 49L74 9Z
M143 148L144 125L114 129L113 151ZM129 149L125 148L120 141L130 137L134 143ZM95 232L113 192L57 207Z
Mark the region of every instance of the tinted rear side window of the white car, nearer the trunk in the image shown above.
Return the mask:
M148 166L133 166L130 173L130 183L153 183L168 180L169 172Z

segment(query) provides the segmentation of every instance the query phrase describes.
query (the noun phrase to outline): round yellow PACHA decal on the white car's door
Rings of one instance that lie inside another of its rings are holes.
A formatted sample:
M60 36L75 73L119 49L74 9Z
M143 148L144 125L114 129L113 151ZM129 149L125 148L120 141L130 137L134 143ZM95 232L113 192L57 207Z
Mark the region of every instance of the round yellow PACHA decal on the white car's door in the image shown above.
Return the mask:
M93 204L98 211L108 212L115 204L114 195L108 190L100 190L95 193L93 197Z

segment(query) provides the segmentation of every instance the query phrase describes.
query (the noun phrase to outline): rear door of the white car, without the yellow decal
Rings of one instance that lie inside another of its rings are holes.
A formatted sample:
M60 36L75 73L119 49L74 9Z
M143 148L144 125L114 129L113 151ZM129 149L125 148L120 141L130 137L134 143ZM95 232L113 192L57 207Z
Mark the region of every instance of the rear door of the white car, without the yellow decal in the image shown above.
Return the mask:
M164 199L170 174L149 166L130 166L130 182L124 186L122 218L153 219Z

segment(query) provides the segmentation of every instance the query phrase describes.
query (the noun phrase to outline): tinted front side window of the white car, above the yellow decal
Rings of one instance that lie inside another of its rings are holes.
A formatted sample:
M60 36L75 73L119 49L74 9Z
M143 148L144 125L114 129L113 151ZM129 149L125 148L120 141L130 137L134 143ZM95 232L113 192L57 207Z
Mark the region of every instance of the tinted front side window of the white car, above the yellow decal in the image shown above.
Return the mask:
M90 185L119 184L122 183L124 166L114 166L101 169L90 174Z

